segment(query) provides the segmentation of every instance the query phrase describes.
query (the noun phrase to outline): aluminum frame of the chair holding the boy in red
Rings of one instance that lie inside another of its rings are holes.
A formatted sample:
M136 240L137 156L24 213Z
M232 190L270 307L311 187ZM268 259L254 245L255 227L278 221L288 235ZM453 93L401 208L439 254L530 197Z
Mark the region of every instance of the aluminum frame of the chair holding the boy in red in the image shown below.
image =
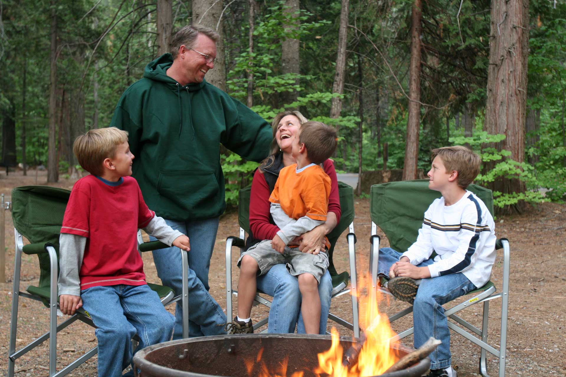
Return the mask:
M76 320L80 320L88 324L89 326L95 327L92 319L85 313L84 309L79 309L74 315L66 319L64 322L57 326L57 276L58 276L58 261L57 252L53 246L46 246L45 250L49 254L50 259L50 295L49 295L49 331L33 340L28 345L24 346L22 349L16 351L16 335L18 332L18 304L19 297L31 298L32 300L43 302L44 299L35 294L20 291L20 274L22 267L22 253L23 253L23 238L22 235L14 228L15 237L15 262L14 262L14 285L12 289L12 310L11 310L11 323L10 323L10 344L8 348L8 377L14 377L15 374L15 362L16 359L22 357L24 354L28 353L30 350L36 346L43 343L45 340L49 339L49 376L50 377L62 377L67 375L69 372L74 370L76 367L80 366L82 363L87 361L89 358L95 356L98 353L98 346L93 347L88 352L84 353L75 361L71 362L65 368L57 372L57 333ZM138 230L138 252L140 251L140 245L144 242L141 239L141 231ZM149 242L145 242L149 244ZM142 246L143 248L143 246ZM147 248L145 248L147 249ZM148 251L144 250L144 251ZM188 257L183 251L182 253L182 263L183 263L183 281L188 279ZM182 294L174 296L173 292L170 292L166 296L160 298L162 304L168 305L173 302L182 300L183 306L183 337L188 337L188 300L186 299L188 294L187 284L183 284ZM137 337L137 335L136 335ZM134 340L136 339L134 337Z

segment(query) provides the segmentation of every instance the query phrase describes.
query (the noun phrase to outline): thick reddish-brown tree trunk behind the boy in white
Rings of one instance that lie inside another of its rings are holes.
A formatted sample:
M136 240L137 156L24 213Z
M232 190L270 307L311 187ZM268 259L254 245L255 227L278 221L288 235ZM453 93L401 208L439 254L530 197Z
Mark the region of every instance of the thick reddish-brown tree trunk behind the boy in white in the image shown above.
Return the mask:
M527 62L529 55L529 0L492 0L490 57L487 76L486 131L501 133L498 150L511 151L517 162L525 159ZM493 167L485 164L486 169ZM501 193L525 192L518 179L500 178L491 189ZM524 203L515 207L521 211Z

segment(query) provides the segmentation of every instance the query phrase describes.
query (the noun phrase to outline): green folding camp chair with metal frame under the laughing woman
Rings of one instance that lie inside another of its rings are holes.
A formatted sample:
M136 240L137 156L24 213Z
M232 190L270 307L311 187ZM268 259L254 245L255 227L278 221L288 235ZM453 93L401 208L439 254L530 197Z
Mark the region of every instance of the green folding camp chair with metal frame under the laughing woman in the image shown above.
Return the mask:
M240 225L239 237L230 236L226 239L226 316L228 319L232 318L232 295L238 296L238 291L232 289L232 246L237 246L240 248L240 253L243 252L245 246L245 233L250 234L250 187L241 189L238 196L238 223ZM332 277L332 298L342 296L342 294L349 293L350 291L355 291L357 287L357 275L355 272L355 234L354 234L354 192L353 189L342 182L338 182L338 194L340 195L340 207L341 216L340 223L333 229L331 233L327 235L328 241L331 244L331 248L328 251L329 266L328 272ZM346 236L348 240L348 253L350 257L350 274L344 271L338 274L334 263L332 261L332 256L334 254L334 248L336 241L345 231L349 228L349 233ZM346 289L348 286L348 281L350 281L350 288ZM258 291L258 293L263 293ZM347 320L338 317L335 314L330 313L328 318L335 321L342 326L349 328L354 331L354 336L359 336L359 321L358 321L358 301L357 297L353 294L351 296L352 300L352 313L353 313L353 324ZM265 300L259 294L256 294L254 299L254 305L265 305L271 307L271 302ZM268 322L268 318L260 320L258 323L254 324L254 330L263 326ZM264 330L264 332L267 330Z

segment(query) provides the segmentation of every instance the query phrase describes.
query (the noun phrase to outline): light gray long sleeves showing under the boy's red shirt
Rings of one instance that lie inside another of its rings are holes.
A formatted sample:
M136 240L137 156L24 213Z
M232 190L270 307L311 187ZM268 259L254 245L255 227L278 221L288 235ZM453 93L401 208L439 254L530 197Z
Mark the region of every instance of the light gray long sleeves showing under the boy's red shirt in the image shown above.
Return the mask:
M177 237L183 233L174 230L165 223L163 218L153 216L149 224L143 230L171 246ZM84 248L87 245L87 237L61 233L59 236L59 296L61 294L72 294L80 296L80 266L83 265Z

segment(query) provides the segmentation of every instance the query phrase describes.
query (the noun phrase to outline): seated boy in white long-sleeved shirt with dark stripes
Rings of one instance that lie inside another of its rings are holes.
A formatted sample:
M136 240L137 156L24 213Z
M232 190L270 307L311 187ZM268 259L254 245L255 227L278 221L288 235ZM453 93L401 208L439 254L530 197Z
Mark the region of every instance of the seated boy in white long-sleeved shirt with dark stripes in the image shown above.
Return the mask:
M495 261L495 223L486 205L466 190L481 159L464 146L432 151L428 188L440 191L424 213L417 241L405 253L379 250L379 274L387 288L413 304L414 347L434 336L442 344L430 354L427 376L455 377L450 332L441 305L482 287ZM432 252L436 257L431 258Z

